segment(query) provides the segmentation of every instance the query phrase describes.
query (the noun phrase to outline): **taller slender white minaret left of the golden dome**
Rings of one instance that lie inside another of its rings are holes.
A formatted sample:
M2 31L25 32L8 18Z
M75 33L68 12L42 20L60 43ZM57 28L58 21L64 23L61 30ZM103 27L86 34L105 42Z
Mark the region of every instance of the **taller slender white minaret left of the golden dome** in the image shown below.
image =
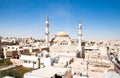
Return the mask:
M49 19L46 17L46 26L45 26L45 45L49 47Z

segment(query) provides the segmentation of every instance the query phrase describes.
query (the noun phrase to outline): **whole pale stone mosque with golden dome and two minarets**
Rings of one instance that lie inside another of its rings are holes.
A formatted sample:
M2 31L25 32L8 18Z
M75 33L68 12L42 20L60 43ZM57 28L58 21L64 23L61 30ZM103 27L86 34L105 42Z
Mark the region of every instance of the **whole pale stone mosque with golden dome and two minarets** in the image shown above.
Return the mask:
M79 23L78 27L78 40L72 39L65 32L58 32L55 36L49 40L49 19L46 18L45 26L45 46L49 48L50 52L73 52L82 51L82 23Z

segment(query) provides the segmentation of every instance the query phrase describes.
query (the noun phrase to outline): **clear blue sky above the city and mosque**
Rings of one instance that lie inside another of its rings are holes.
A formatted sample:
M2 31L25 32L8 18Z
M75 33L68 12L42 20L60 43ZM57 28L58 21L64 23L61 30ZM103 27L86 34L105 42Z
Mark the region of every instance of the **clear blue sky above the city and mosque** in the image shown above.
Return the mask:
M84 40L120 40L120 0L0 0L0 35L44 38L46 16L50 38L82 21Z

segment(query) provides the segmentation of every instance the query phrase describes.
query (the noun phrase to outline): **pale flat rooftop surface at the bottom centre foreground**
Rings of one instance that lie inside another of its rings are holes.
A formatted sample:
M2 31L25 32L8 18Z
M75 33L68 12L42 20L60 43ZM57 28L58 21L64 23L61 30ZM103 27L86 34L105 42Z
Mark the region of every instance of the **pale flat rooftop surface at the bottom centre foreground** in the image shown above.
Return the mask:
M49 66L42 69L34 70L32 72L28 72L25 75L37 77L52 77L55 74L64 75L67 70L70 70L70 68Z

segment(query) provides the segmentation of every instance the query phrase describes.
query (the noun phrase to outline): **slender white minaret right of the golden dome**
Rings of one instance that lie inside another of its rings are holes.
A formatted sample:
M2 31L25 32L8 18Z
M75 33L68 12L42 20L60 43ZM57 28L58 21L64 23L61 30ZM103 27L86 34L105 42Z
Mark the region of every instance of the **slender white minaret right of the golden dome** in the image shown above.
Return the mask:
M79 23L79 28L78 28L78 50L82 51L82 47L81 47L81 43L82 43L82 23Z

